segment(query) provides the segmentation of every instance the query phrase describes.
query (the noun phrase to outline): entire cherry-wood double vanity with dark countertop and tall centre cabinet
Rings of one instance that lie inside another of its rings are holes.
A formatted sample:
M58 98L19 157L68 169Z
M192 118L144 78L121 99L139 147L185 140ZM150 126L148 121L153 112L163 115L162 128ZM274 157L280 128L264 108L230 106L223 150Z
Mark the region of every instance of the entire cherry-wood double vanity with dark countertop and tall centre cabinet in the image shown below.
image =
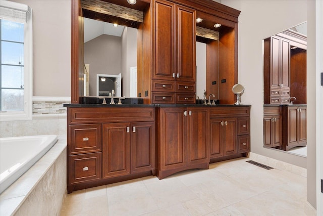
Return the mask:
M164 179L246 156L251 106L234 105L231 90L238 81L240 11L211 0L72 0L71 11L68 193L150 175ZM84 18L137 28L142 103L84 97ZM217 105L196 100L197 41L206 50L203 100L212 97Z

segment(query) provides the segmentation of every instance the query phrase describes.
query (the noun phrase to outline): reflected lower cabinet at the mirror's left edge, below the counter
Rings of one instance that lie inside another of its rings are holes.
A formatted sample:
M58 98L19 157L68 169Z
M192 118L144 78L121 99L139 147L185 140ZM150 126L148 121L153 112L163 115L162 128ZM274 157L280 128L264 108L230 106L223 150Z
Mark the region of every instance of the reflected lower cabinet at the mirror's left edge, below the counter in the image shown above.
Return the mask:
M282 108L281 106L264 107L263 143L266 147L282 146Z

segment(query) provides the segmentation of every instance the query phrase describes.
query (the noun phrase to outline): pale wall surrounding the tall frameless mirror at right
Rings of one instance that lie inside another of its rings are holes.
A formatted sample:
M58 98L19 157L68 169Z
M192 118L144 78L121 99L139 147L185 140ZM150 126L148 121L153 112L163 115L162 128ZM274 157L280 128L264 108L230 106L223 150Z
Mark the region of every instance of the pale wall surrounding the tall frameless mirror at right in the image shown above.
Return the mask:
M221 3L241 11L238 19L238 82L246 89L243 94L243 103L252 105L250 113L251 152L306 168L306 158L263 148L262 39L306 21L307 1L222 0ZM313 32L310 24L307 31L308 35ZM311 52L313 51L307 49L307 53ZM309 59L307 61L307 65L312 63ZM307 84L308 89L310 85L310 83ZM308 102L312 101L313 97L315 96L307 94ZM311 106L313 105L308 105L309 110ZM307 120L311 122L311 119ZM315 122L315 118L313 120ZM315 142L308 142L307 145L308 149L311 149ZM315 160L315 155L308 152L308 158ZM312 173L311 170L312 167L307 167L308 174ZM312 181L313 178L315 179L312 175L307 176L308 181ZM312 189L312 186L308 187L308 190ZM308 195L308 200L315 206L315 201L311 199L313 195L315 196L315 194Z

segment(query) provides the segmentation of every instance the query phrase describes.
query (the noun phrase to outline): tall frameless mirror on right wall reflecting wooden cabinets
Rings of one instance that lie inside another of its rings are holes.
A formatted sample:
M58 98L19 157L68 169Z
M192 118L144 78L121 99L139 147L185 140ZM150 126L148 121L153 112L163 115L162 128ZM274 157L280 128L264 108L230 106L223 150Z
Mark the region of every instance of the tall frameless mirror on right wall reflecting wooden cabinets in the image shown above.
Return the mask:
M265 148L307 156L307 23L263 40Z

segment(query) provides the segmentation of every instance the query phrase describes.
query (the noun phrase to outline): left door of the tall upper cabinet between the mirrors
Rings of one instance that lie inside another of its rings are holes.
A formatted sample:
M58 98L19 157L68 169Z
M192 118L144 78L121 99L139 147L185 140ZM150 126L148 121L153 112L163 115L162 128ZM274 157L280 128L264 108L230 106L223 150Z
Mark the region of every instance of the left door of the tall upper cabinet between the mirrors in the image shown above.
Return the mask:
M175 4L155 1L155 68L152 78L174 80Z

